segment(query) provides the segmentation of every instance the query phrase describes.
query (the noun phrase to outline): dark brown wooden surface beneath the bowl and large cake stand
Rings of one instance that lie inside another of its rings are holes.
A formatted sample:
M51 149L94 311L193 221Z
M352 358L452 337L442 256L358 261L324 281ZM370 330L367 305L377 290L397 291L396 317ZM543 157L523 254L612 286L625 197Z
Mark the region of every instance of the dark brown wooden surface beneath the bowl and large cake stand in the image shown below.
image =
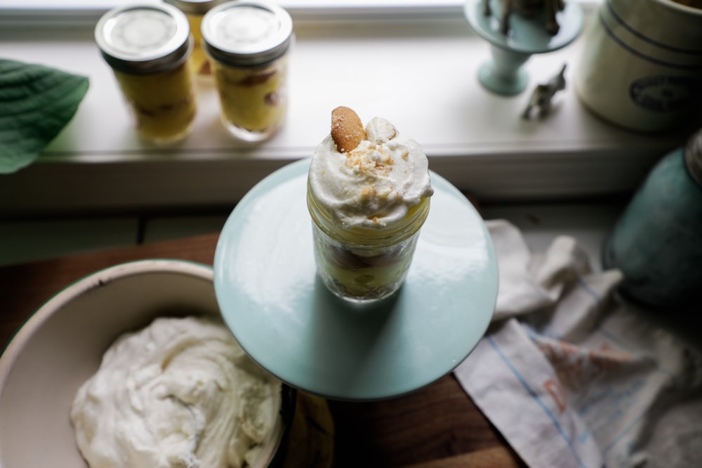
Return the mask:
M0 347L43 302L99 269L145 258L213 264L218 234L112 248L0 268ZM329 401L335 467L523 467L453 375L412 394Z

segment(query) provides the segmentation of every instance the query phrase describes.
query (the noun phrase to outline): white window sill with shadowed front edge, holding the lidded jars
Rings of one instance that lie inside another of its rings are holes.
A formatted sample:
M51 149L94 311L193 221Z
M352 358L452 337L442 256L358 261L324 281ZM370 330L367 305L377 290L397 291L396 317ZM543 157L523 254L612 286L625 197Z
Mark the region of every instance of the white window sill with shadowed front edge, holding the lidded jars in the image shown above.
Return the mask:
M383 116L418 140L430 168L486 201L578 199L627 192L682 135L641 135L592 116L572 86L550 116L519 114L529 91L485 91L477 68L489 47L462 15L435 21L296 22L291 105L283 130L263 145L234 141L220 124L211 83L200 83L194 132L174 147L140 143L92 27L0 28L0 56L86 74L91 88L69 126L32 166L3 176L0 213L231 205L258 180L310 156L331 109L364 121ZM529 89L564 63L581 39L527 62ZM569 80L571 82L571 80Z

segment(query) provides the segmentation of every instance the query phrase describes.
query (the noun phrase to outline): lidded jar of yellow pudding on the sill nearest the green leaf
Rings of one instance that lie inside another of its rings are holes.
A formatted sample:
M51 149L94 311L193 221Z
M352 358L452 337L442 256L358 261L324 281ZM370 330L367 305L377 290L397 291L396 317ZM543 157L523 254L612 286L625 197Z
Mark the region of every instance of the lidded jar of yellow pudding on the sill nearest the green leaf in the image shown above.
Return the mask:
M95 41L141 138L166 143L190 133L196 103L187 65L192 37L185 13L167 4L114 8L95 26Z

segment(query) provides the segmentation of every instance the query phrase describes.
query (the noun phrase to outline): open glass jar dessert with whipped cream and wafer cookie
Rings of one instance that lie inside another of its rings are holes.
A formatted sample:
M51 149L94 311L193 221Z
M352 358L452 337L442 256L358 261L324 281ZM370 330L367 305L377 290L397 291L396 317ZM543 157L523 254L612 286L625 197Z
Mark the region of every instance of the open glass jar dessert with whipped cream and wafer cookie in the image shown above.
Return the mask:
M336 137L335 137L336 135ZM357 135L356 142L342 141ZM335 295L381 300L406 279L433 189L420 146L376 117L332 113L307 178L317 274Z

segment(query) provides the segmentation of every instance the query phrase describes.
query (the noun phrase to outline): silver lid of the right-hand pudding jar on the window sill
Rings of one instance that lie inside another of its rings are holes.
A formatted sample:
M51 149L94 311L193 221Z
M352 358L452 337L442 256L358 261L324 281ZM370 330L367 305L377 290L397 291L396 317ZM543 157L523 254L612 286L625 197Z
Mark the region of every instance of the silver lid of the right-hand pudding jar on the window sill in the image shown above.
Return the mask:
M293 20L283 8L258 1L228 1L202 19L203 47L218 62L251 67L288 50Z

